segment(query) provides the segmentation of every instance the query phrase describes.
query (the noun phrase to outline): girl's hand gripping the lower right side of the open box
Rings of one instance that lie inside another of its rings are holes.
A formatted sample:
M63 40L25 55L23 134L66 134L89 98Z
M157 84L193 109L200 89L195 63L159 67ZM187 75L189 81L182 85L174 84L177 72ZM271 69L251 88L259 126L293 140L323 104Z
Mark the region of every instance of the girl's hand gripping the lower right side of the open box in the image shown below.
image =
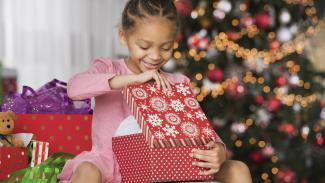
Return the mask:
M200 172L200 175L213 175L219 172L221 165L226 161L226 151L221 143L209 142L209 150L194 149L190 156L203 162L193 162L194 166L209 168L208 171Z

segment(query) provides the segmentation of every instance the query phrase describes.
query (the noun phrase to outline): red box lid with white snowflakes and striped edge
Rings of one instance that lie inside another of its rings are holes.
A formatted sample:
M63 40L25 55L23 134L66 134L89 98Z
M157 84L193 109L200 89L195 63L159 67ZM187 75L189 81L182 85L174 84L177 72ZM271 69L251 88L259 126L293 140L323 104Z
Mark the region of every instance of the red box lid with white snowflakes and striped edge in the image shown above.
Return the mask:
M156 83L130 85L123 93L151 148L220 140L188 84L177 83L171 91L158 89Z

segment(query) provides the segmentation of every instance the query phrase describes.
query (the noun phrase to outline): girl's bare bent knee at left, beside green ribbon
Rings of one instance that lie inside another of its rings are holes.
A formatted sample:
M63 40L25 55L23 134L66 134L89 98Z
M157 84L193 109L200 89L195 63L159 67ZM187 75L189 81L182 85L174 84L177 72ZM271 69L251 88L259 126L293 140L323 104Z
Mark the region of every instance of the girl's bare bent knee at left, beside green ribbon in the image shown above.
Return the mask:
M99 168L96 165L90 162L81 163L74 172L78 177L101 177Z

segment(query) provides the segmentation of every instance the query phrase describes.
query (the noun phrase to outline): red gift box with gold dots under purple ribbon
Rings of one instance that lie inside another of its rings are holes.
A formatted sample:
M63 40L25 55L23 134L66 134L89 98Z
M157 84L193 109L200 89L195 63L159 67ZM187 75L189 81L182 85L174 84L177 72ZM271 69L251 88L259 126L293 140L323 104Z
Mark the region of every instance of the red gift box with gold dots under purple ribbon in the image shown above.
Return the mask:
M49 156L91 149L91 115L18 114L17 118L13 133L33 133L35 140L49 142Z

